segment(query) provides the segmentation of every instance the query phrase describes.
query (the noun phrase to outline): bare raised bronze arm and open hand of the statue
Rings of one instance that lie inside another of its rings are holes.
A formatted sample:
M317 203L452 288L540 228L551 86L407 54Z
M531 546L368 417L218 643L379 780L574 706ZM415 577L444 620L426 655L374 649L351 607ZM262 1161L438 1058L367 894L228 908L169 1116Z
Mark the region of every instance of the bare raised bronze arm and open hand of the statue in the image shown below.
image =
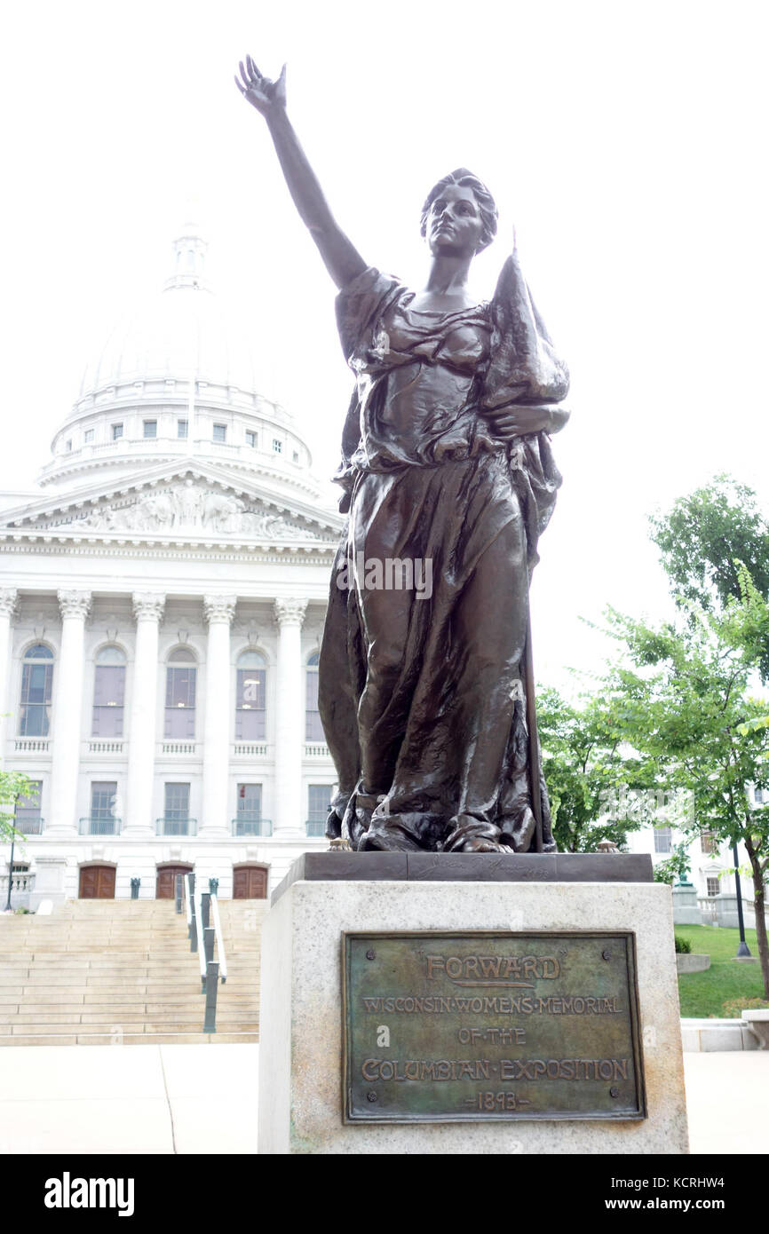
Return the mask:
M346 288L367 268L354 244L336 222L315 172L286 114L285 64L276 81L262 77L251 56L239 63L235 83L244 99L267 120L280 167L302 222L317 244L326 269Z

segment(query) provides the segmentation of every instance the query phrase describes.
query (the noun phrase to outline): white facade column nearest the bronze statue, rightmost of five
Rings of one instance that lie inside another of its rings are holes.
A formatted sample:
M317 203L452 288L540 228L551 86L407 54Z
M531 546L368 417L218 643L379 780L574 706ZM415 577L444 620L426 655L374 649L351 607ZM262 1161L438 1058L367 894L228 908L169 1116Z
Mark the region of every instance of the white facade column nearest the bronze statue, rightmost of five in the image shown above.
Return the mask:
M306 600L275 600L278 689L275 716L274 833L296 839L306 811L301 800L305 700L301 674L301 623Z

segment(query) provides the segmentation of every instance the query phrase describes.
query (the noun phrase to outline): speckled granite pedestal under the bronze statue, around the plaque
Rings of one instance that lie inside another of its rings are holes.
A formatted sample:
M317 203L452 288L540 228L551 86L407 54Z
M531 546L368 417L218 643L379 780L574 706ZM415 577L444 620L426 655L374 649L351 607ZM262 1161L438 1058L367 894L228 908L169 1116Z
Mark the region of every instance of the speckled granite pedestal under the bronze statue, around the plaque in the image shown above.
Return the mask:
M648 856L305 854L262 935L259 1151L680 1154L688 1151L670 888ZM634 935L646 1117L343 1120L343 932Z

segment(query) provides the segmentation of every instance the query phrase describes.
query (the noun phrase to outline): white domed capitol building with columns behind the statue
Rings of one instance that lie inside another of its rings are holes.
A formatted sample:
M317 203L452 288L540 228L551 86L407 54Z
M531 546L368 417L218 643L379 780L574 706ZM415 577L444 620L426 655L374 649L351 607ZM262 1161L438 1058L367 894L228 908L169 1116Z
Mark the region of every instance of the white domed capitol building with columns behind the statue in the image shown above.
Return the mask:
M37 790L14 855L32 908L132 879L170 895L189 869L264 896L328 844L317 653L342 521L205 249L185 227L37 490L0 494L0 750Z

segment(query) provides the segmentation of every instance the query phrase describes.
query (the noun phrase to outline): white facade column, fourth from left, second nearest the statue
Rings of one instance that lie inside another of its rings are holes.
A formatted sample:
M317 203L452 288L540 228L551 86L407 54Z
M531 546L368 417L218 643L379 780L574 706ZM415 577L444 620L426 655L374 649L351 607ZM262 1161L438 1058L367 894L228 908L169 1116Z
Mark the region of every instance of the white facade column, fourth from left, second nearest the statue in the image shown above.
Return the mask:
M227 779L230 771L230 623L237 596L204 596L209 623L206 645L206 719L202 738L201 833L226 835Z

